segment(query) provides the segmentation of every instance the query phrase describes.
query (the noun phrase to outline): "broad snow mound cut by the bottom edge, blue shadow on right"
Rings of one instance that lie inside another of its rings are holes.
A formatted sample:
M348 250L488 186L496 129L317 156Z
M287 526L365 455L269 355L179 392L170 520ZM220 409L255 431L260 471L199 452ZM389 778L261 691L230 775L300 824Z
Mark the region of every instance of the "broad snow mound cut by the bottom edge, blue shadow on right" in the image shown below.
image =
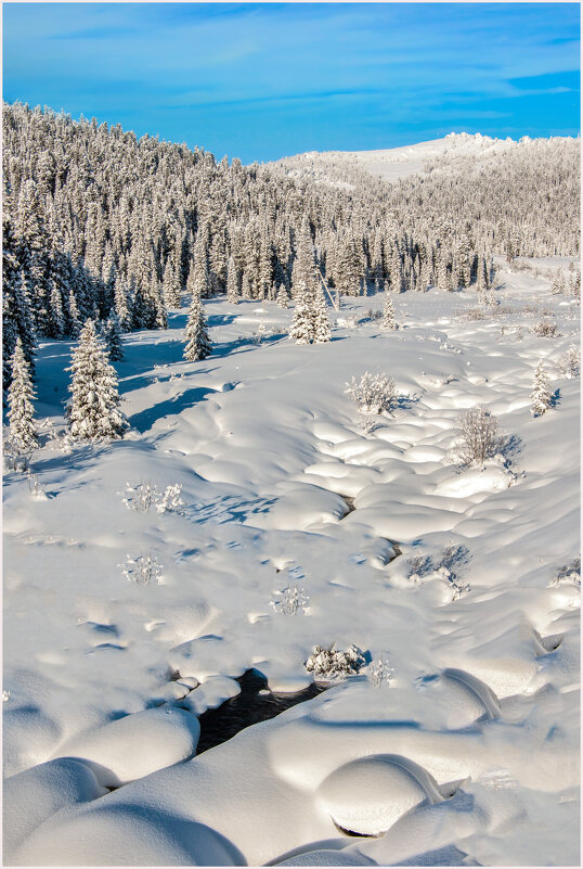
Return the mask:
M41 828L15 866L246 866L220 833L147 806L103 805Z

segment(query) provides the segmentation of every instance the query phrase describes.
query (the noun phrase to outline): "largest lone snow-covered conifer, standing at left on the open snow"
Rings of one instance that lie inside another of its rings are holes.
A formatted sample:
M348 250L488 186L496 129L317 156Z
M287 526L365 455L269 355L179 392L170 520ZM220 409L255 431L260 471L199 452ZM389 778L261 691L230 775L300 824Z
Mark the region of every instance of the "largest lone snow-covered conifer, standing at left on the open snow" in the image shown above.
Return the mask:
M124 436L128 421L119 409L117 375L107 353L88 320L79 344L73 350L73 372L66 416L72 437L83 440L109 440Z

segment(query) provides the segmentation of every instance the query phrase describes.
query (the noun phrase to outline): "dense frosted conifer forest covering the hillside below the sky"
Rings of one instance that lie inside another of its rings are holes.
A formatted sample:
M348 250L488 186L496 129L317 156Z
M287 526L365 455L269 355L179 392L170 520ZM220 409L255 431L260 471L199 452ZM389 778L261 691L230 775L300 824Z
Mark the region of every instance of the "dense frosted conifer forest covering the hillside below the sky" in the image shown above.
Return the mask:
M403 181L396 192L371 178L349 190L280 167L218 163L119 125L4 104L4 387L17 336L33 365L37 337L77 337L87 319L113 317L122 331L165 328L184 291L286 305L296 296L302 225L322 278L350 295L373 283L394 292L483 286L501 233L516 253L530 252L524 227L539 214L548 225L536 229L536 251L562 244L561 253L574 253L576 167L571 152L560 153L540 148L544 183L531 187L523 167L515 222L508 206L508 222L489 229L482 206L467 217L465 189L456 193L445 169L431 175L433 187ZM491 202L510 195L496 166L491 182L481 180Z

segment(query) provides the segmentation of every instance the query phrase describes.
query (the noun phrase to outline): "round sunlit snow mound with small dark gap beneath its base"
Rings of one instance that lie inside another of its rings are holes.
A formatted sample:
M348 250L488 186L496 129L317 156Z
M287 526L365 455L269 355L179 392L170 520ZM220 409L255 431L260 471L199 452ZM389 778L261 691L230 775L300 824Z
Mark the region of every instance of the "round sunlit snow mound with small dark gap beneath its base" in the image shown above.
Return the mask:
M436 780L418 764L396 754L351 761L318 789L318 802L334 822L362 835L378 835L413 806L442 800Z

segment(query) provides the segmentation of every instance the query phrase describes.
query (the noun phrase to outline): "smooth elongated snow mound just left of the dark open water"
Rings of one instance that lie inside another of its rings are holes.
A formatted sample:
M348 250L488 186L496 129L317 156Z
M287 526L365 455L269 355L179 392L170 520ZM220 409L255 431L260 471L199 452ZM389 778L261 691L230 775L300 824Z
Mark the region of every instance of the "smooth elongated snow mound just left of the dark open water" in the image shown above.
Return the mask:
M57 756L99 764L101 783L118 787L192 757L199 734L198 718L189 712L144 710L74 737Z

